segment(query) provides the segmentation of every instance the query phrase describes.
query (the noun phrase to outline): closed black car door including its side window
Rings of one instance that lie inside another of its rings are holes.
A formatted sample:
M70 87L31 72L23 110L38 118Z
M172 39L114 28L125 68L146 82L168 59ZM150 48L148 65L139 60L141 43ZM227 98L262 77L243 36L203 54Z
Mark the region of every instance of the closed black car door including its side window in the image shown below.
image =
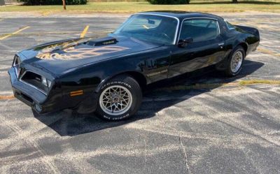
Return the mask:
M186 38L193 38L193 43L186 43L183 47L174 45L172 49L169 78L216 64L225 57L217 20L183 20L179 41Z

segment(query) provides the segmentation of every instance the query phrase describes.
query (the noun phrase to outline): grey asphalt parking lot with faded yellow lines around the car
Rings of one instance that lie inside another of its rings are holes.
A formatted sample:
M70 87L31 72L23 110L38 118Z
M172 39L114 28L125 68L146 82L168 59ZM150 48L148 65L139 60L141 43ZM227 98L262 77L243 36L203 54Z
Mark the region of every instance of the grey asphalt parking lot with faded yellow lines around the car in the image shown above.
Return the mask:
M13 99L7 71L18 50L86 26L104 36L127 15L0 14L0 173L280 173L280 14L220 15L260 30L240 75L177 79L148 90L133 119L104 122L69 110L34 116Z

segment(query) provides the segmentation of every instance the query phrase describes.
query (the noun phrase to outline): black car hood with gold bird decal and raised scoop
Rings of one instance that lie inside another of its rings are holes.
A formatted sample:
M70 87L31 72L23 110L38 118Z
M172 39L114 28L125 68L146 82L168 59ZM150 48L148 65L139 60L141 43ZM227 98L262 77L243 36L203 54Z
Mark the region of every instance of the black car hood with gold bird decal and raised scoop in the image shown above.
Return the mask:
M146 43L123 36L95 40L93 38L75 38L38 45L19 52L19 55L22 64L45 69L54 75L62 75L72 68L160 46L160 44Z

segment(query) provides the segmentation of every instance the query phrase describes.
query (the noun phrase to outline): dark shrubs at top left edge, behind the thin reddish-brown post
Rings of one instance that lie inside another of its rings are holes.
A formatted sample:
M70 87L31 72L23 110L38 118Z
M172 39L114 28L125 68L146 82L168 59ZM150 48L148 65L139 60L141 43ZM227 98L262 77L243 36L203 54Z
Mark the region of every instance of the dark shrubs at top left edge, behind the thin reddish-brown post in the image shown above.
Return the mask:
M62 5L62 0L18 0L23 2L25 5ZM87 0L66 0L66 5L79 5L86 4Z

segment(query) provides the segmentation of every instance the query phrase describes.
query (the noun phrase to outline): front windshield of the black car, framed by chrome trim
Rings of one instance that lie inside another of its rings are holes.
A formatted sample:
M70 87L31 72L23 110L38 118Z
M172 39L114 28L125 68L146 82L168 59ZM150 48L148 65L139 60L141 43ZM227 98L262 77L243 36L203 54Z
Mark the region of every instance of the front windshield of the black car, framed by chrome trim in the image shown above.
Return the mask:
M132 15L113 34L153 43L174 44L178 21L159 15Z

